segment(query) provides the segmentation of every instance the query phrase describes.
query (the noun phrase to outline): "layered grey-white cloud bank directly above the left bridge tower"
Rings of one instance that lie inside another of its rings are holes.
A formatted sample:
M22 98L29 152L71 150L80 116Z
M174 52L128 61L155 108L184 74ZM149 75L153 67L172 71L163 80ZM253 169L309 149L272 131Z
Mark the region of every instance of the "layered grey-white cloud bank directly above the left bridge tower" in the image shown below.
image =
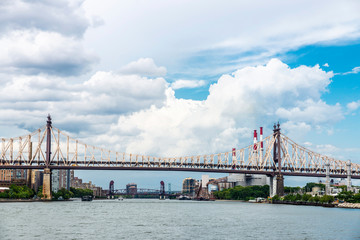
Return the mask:
M163 78L112 72L97 72L78 84L55 76L10 76L0 89L0 121L30 131L52 113L56 126L91 135L102 132L121 114L163 106L167 89Z

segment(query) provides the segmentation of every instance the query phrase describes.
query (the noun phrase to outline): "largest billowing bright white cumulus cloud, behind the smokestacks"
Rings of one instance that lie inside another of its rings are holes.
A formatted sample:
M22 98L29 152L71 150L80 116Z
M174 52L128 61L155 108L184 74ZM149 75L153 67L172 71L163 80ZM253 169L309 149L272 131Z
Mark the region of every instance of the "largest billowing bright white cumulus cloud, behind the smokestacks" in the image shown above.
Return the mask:
M223 75L204 101L177 99L169 88L164 106L121 116L98 142L140 154L206 154L246 146L251 128L260 122L271 126L279 113L285 131L332 124L342 119L341 108L320 99L332 76L319 66L291 69L273 59L265 66Z

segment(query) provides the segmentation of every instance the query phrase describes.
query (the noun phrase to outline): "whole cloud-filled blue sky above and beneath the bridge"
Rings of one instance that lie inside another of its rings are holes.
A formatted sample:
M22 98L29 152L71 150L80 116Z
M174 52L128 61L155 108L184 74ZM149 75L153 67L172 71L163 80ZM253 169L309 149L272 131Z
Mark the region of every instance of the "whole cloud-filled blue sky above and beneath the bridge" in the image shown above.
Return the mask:
M180 156L247 146L280 121L299 144L360 163L359 12L350 0L3 2L0 136L51 113L86 143ZM200 178L76 175L119 188Z

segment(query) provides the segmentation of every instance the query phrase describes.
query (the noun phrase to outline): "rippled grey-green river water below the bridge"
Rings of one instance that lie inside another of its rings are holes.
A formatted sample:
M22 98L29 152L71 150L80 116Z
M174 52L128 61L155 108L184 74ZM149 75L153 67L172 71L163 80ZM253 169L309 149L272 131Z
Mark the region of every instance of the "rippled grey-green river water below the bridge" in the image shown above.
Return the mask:
M360 239L360 210L154 199L0 203L0 239Z

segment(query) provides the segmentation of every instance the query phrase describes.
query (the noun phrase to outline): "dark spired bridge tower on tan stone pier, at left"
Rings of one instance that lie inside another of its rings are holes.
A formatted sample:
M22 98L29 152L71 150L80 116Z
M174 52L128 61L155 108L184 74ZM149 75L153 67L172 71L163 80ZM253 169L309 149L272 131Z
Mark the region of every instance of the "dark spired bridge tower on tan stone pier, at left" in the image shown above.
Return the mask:
M50 114L47 117L46 124L46 159L45 159L45 168L43 176L43 199L51 200L51 169L49 168L50 159L51 159L51 129L52 122Z

